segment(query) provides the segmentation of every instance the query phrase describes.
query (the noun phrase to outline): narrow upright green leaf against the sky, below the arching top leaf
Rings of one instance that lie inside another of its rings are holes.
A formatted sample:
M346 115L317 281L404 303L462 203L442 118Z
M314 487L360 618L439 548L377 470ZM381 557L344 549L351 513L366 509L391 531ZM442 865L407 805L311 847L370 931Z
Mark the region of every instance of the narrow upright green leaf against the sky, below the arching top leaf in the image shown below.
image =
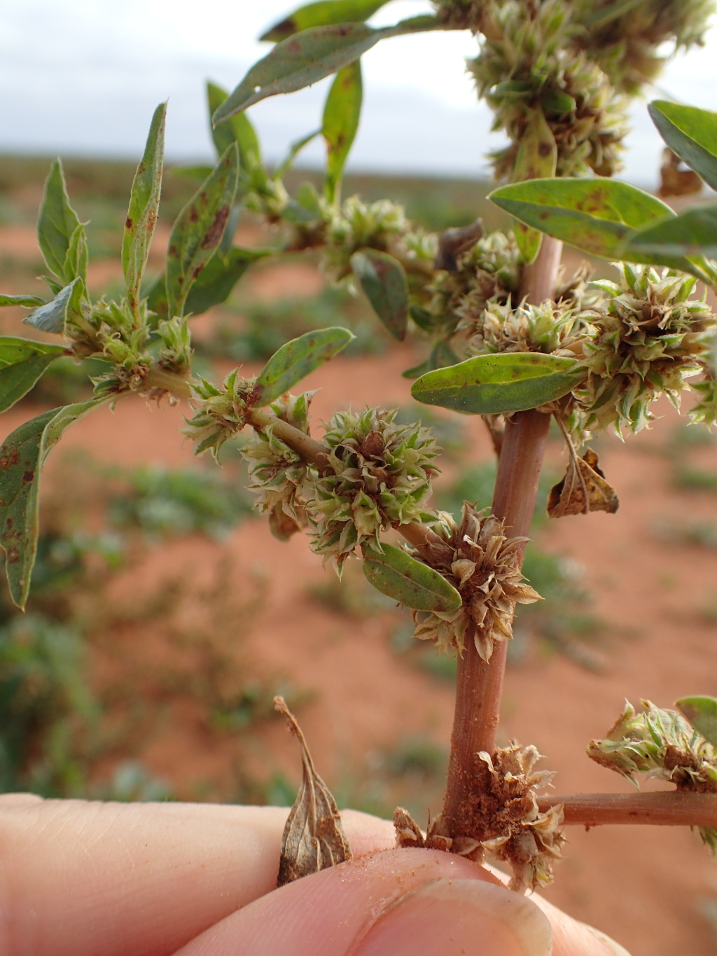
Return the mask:
M321 125L327 150L324 195L330 203L337 203L339 199L343 167L359 129L362 98L361 62L356 60L338 71L324 106Z

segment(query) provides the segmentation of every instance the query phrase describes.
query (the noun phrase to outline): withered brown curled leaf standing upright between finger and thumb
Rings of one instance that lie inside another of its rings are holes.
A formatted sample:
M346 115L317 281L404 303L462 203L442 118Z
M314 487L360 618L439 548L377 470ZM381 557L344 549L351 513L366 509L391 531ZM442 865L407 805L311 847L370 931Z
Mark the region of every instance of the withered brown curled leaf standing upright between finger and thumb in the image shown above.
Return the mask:
M341 826L337 803L316 773L304 735L282 697L274 709L284 714L301 748L301 786L293 802L281 841L277 886L284 886L329 866L351 859L351 847Z

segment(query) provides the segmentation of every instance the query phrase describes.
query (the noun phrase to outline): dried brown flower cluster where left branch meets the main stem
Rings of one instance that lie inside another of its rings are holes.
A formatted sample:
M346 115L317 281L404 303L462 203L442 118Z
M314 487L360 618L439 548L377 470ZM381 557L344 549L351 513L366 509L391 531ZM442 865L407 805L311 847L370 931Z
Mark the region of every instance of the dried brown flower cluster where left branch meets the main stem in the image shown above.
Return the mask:
M489 661L495 641L512 637L516 604L532 604L540 595L524 580L520 546L524 538L509 538L502 522L492 514L464 505L460 523L443 514L437 532L448 548L435 568L463 598L453 612L414 611L414 637L435 641L446 654L463 655L474 641L484 661Z

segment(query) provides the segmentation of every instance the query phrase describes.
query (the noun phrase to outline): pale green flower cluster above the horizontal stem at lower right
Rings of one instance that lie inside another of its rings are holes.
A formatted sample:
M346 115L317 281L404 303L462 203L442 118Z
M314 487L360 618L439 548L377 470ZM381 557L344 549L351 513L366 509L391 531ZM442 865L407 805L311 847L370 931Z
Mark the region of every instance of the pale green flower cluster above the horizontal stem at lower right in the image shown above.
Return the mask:
M717 793L717 750L674 710L642 701L625 709L604 740L591 740L588 756L639 787L636 773L659 777L687 793ZM706 845L717 851L717 828L700 827Z

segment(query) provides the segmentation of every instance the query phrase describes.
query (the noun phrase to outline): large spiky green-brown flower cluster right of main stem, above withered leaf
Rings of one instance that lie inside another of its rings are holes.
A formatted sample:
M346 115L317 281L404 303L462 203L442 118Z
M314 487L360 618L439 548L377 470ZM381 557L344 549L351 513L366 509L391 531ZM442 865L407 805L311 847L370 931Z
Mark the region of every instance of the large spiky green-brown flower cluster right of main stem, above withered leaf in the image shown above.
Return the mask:
M650 402L665 394L679 406L685 380L704 369L715 316L706 297L690 298L696 279L619 263L619 282L597 282L606 295L586 319L587 379L574 392L576 424L592 431L639 431L654 416ZM708 396L707 396L708 399Z

